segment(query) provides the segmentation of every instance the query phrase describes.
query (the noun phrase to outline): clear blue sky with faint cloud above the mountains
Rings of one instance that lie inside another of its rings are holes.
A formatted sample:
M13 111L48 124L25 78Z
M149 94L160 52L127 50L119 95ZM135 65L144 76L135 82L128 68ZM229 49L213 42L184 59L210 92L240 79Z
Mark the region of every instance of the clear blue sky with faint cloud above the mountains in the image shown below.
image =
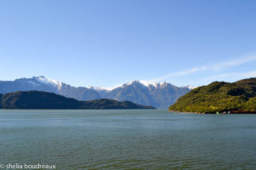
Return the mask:
M201 86L256 77L253 0L1 0L0 80Z

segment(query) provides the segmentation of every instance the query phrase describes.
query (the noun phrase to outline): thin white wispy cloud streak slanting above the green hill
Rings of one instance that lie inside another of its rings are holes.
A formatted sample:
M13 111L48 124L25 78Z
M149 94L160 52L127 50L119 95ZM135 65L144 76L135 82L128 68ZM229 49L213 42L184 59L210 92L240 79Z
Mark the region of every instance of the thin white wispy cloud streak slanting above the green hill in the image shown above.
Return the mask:
M162 77L156 77L156 78L153 78L150 80L144 80L144 82L160 82L160 81L165 81L168 78L186 76L186 75L194 74L194 73L200 72L200 71L215 71L215 72L216 71L224 71L230 67L243 65L248 62L255 61L255 60L256 60L256 55L247 55L247 56L244 56L244 57L241 57L238 59L232 59L232 60L216 63L213 65L204 65L204 66L195 67L195 68L192 68L189 70L172 72L172 73L162 76ZM217 75L217 76L213 76L213 77L224 77L224 75L225 74L221 74L221 75ZM254 77L255 77L255 75L254 75Z

